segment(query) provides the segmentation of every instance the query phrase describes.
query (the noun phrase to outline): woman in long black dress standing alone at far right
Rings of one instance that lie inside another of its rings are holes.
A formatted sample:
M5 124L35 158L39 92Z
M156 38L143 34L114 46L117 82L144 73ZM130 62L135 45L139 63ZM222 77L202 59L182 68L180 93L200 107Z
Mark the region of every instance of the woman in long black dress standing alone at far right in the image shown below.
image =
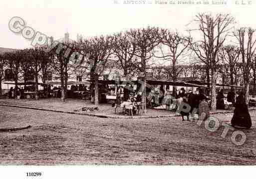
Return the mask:
M251 116L248 111L244 93L241 92L237 97L235 111L231 120L231 125L235 128L250 129L252 127Z

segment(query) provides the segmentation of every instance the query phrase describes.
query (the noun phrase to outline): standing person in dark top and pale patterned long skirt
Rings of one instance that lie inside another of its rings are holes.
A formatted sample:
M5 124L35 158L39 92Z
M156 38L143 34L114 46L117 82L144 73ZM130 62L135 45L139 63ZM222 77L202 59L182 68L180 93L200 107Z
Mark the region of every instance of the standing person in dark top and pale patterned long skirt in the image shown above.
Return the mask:
M203 120L205 121L207 118L209 118L210 111L208 107L208 98L205 96L203 89L199 89L198 100L199 100L199 107L198 107L199 119L203 118Z

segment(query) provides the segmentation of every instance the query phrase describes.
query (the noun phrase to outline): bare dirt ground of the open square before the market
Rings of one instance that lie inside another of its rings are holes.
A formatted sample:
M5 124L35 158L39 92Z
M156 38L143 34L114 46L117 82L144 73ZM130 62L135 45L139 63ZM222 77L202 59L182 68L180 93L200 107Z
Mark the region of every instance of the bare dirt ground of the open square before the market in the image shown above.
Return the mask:
M256 165L256 112L247 141L181 118L105 119L0 106L1 165ZM218 115L230 123L232 114Z

